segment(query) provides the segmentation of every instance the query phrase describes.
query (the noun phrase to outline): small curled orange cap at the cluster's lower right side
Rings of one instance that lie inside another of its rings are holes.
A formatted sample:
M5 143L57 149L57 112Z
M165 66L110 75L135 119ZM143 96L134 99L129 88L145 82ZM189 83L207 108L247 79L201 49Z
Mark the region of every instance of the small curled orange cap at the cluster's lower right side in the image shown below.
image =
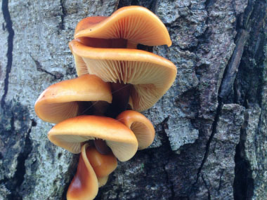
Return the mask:
M152 144L155 138L155 129L148 118L143 114L126 110L117 116L117 120L131 129L138 140L138 149L145 149Z

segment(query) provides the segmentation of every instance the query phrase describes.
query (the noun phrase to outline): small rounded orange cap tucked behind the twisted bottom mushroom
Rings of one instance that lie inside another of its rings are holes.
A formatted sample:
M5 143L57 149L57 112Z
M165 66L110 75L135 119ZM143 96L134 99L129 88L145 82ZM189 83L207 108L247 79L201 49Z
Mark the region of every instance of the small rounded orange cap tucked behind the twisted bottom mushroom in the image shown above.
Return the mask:
M117 159L112 152L109 154L100 154L96 150L96 147L88 147L86 149L86 156L98 179L110 175L117 168Z

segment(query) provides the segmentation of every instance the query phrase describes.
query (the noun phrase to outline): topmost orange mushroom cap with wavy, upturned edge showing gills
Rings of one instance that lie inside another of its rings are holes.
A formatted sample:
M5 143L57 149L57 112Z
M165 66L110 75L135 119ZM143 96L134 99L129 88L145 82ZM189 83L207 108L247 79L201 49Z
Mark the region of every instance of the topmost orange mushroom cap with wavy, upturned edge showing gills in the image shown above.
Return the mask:
M74 38L127 39L133 44L171 46L169 32L159 18L141 6L119 8L109 18L89 17L81 20Z

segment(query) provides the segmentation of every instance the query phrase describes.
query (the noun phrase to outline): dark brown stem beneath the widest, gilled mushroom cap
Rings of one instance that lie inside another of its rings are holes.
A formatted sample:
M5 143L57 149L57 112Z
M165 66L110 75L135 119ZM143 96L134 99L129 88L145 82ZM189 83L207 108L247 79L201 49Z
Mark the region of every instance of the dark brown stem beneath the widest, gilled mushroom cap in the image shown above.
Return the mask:
M127 109L132 85L111 83L110 86L112 90L112 103L105 116L115 118L118 114Z

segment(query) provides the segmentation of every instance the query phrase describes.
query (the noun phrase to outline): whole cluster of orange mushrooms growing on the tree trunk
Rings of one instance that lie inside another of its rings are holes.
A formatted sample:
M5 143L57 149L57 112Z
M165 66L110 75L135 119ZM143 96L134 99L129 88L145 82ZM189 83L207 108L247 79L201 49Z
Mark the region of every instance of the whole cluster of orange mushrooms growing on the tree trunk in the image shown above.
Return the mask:
M155 129L140 112L171 87L176 67L138 44L171 46L167 28L146 8L81 20L70 41L78 77L49 86L35 103L37 116L56 124L48 139L81 153L67 199L94 199L117 159L128 161L154 140Z

